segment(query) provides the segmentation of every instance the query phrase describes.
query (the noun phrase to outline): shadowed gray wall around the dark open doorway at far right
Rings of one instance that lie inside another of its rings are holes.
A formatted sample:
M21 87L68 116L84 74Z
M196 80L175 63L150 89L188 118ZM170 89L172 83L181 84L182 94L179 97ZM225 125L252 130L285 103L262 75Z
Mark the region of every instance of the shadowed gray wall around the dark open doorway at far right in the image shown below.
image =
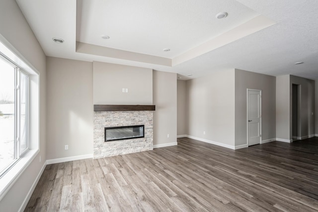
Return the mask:
M300 124L302 138L315 135L315 81L290 75L290 91L292 84L300 85ZM292 92L291 94L292 95ZM290 110L292 110L292 101L290 101ZM290 113L292 120L292 112ZM292 121L290 122L290 138L292 139Z

